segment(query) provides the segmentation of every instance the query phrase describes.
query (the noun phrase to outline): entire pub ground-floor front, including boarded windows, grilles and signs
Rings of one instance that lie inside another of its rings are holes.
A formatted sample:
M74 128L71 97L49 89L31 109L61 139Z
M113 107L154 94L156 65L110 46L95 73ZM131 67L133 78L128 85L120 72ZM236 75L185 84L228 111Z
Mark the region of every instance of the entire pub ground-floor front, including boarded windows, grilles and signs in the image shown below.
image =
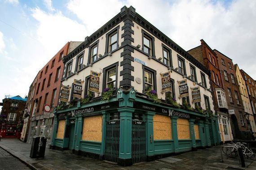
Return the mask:
M156 104L119 88L108 101L54 114L53 149L97 157L127 166L221 142L216 116Z

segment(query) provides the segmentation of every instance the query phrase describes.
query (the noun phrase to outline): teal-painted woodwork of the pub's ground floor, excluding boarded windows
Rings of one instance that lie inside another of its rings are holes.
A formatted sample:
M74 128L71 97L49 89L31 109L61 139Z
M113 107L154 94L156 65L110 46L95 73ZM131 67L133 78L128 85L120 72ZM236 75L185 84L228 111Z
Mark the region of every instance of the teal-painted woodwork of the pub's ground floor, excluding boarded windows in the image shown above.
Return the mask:
M80 105L80 103L78 105ZM108 109L104 109L106 108L105 106L108 106ZM90 108L93 109L91 109L91 112L88 111L89 113L77 115L74 114L73 116L68 115L68 113L73 110L89 110ZM103 109L101 110L101 108ZM160 109L163 110L162 113L159 111ZM181 117L171 115L172 111L182 112L186 115L189 115L189 118L182 119L188 119L189 121L190 139L178 139L177 119ZM87 104L80 105L79 107L68 108L66 110L60 110L55 112L52 148L57 147L58 149L63 150L71 149L74 153L77 154L94 155L94 157L96 156L98 158L105 159L107 143L106 140L109 140L108 136L106 135L106 127L110 126L111 123L113 123L111 122L110 118L110 115L112 115L113 113L118 113L119 115L119 134L117 134L117 136L119 136L119 144L117 151L117 162L119 164L122 164L120 162L133 162L132 126L134 124L135 119L134 113L141 114L140 121L143 122L146 127L146 131L144 134L146 144L145 148L142 148L142 151L143 149L145 149L145 153L141 152L140 154L141 157L145 156L147 161L150 161L159 155L181 153L199 147L211 147L213 145L219 144L221 141L218 123L215 116L207 117L207 115L203 115L194 111L184 110L181 108L174 108L168 104L156 104L147 98L141 98L136 96L136 92L133 88L119 88L117 91L117 96L110 98L109 101L89 102ZM156 114L167 115L170 117L172 140L154 140L153 117ZM85 116L94 115L102 116L101 142L82 140L83 118ZM56 138L58 121L60 119L65 119L66 123L63 139ZM137 122L140 123L140 121ZM200 139L195 139L194 124L197 124L199 127ZM212 132L212 135L210 135L209 126L211 126L210 130ZM211 136L213 136L212 139ZM129 165L129 163L125 164Z

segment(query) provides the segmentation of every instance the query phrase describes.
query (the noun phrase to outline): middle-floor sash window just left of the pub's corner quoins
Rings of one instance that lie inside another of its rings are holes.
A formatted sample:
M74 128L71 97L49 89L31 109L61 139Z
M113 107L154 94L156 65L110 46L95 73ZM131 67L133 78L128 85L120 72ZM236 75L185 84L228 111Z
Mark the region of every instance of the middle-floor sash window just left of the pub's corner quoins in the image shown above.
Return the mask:
M103 88L117 89L118 62L103 68Z

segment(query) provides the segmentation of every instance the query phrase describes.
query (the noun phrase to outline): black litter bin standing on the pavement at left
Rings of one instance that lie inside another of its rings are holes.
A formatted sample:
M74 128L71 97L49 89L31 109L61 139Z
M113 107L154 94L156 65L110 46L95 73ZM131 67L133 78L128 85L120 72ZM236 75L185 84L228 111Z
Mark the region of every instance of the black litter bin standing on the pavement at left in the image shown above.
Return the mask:
M47 137L41 137L41 143L40 143L40 136L33 137L33 142L30 150L31 158L44 157L46 141L47 141Z

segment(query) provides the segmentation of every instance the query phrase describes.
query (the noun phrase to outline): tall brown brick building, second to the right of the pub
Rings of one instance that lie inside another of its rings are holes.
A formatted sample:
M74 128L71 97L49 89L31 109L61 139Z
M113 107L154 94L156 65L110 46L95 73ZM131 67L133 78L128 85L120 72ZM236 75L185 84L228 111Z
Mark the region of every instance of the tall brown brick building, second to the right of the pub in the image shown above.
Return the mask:
M246 139L248 127L233 61L220 51L213 51L218 56L234 139Z

